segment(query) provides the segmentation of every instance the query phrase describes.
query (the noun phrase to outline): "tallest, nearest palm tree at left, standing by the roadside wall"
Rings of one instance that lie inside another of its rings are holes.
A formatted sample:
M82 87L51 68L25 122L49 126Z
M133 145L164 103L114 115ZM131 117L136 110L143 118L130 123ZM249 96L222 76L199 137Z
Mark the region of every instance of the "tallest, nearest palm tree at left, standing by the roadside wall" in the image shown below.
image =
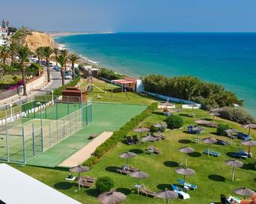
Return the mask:
M28 46L20 46L18 48L18 57L21 61L21 72L22 72L22 80L23 80L23 95L27 96L27 87L26 87L26 80L25 80L25 62L28 61L28 57L31 56L31 50Z

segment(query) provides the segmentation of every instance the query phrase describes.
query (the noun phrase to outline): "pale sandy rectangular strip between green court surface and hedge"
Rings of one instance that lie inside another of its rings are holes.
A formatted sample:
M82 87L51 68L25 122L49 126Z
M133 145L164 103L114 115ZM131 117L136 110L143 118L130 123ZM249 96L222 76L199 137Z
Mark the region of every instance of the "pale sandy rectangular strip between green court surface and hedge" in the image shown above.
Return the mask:
M113 132L102 132L102 134L98 135L95 139L92 139L92 142L85 145L79 151L76 151L70 158L64 160L59 166L61 167L75 167L79 164L82 164L83 161L90 158L92 153L96 150L96 148L105 142L107 139L111 137Z

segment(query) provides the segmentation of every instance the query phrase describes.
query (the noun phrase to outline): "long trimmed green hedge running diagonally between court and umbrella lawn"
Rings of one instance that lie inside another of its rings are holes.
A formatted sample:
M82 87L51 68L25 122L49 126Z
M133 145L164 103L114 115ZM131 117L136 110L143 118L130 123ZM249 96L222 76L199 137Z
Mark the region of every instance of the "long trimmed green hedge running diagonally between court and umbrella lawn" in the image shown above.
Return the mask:
M86 160L83 164L86 166L92 166L93 164L97 164L100 158L102 158L106 153L109 152L109 150L115 147L118 142L121 142L123 139L125 139L125 136L128 134L128 132L138 126L141 121L146 119L148 116L151 115L151 113L157 110L157 106L157 102L152 103L142 113L134 116L128 123L125 123L124 126L113 132L113 135L104 143L102 143L102 145L99 145L99 147L96 148L95 154L91 158Z

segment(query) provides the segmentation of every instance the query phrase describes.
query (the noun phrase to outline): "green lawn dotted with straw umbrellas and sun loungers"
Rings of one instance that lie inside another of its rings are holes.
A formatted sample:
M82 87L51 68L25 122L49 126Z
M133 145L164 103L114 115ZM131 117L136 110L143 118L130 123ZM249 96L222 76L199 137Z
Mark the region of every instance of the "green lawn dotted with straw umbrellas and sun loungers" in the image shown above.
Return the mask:
M137 195L134 193L134 184L138 183L138 180L115 173L115 167L120 167L125 164L125 160L119 158L118 155L124 151L134 151L138 155L130 160L130 164L134 167L138 167L141 171L146 171L150 174L145 180L141 180L147 188L158 191L164 190L165 188L171 189L171 183L177 183L178 178L182 178L180 175L175 173L175 169L180 165L184 164L185 155L178 151L178 148L184 146L193 147L196 152L189 155L188 166L196 171L196 175L193 177L187 177L190 183L196 184L198 189L195 191L189 191L191 199L181 200L177 199L170 203L209 203L219 202L220 194L232 194L232 190L237 187L248 187L255 189L256 171L254 171L254 158L243 160L244 167L238 168L235 171L235 182L232 182L232 167L225 164L225 161L232 159L228 152L238 151L238 147L241 146L241 140L235 139L232 145L220 146L212 145L212 150L219 151L221 156L219 158L208 157L202 155L202 151L207 149L207 145L203 142L199 144L194 142L196 135L190 135L184 132L186 126L193 124L193 120L208 117L208 113L203 110L195 110L196 118L190 118L186 116L186 113L191 113L191 110L185 110L182 114L183 120L185 120L183 130L168 130L165 132L167 139L160 142L154 142L154 145L159 148L162 153L160 155L148 155L147 145L151 143L144 143L138 145L128 146L125 143L120 142L109 155L106 155L99 161L98 164L94 165L88 172L89 176L101 177L109 176L115 181L115 188L127 194L127 200L124 203L165 203L162 199L151 199L145 196ZM163 121L165 116L159 114L153 114L144 120L140 126L150 126L151 124ZM240 125L232 122L225 122L225 120L218 120L217 123L228 123L233 128L243 130L247 132L248 129L241 129ZM130 132L134 134L134 132ZM252 131L251 135L255 135L256 131ZM212 136L215 138L222 138L228 140L226 137L220 137L215 135L214 128L206 128L206 131L199 135L200 139L204 137ZM246 149L242 146L242 148ZM253 155L256 154L256 148L251 148ZM64 177L67 176L68 171L62 169L50 169L40 167L24 166L19 167L14 165L19 170L32 177L41 180L47 185L60 190L68 196L72 196L74 199L79 200L83 203L98 203L96 196L97 192L95 186L91 189L78 190L76 183L65 182ZM235 196L235 195L234 195Z

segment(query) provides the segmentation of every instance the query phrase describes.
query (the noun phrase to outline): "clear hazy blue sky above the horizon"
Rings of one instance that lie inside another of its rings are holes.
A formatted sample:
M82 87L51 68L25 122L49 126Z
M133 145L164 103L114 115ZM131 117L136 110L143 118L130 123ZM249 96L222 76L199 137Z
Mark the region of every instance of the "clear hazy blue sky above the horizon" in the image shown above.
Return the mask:
M256 0L7 0L0 9L13 26L42 31L256 32Z

